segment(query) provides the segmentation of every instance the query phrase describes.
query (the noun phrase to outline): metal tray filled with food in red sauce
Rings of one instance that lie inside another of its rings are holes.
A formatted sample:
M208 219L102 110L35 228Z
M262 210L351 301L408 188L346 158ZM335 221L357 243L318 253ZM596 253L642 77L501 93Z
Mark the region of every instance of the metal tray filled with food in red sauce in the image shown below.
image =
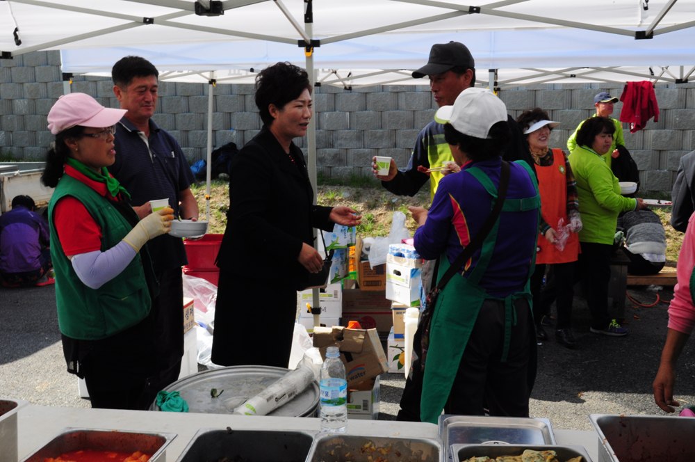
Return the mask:
M93 449L95 451L136 452L152 454L149 462L165 462L166 447L176 438L174 433L136 433L133 431L65 429L47 445L22 462L44 462L65 452Z

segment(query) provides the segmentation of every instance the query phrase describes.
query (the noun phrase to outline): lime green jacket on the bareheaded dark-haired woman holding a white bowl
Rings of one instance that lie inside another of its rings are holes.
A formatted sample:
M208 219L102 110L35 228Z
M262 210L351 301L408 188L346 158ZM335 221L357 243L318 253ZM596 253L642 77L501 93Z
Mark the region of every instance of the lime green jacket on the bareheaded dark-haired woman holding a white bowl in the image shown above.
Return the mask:
M634 210L637 199L621 196L618 179L594 150L578 146L569 155L569 164L577 182L582 216L580 242L613 244L618 214Z

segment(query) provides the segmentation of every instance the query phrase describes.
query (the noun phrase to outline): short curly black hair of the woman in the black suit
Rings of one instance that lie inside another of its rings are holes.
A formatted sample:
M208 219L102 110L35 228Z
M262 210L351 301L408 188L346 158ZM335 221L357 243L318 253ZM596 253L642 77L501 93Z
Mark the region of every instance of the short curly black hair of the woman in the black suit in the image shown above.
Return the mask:
M277 63L259 72L256 75L256 106L261 113L263 125L270 125L273 121L268 110L270 104L281 109L288 102L297 99L304 90L311 93L309 74L302 67Z

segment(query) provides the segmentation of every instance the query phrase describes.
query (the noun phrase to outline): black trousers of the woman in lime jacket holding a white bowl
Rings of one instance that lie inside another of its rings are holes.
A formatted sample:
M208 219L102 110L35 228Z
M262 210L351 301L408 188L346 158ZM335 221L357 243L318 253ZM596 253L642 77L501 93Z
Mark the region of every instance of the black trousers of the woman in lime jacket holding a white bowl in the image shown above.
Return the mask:
M587 293L591 327L605 329L611 321L608 314L608 283L613 246L596 242L582 242L580 245L579 274Z

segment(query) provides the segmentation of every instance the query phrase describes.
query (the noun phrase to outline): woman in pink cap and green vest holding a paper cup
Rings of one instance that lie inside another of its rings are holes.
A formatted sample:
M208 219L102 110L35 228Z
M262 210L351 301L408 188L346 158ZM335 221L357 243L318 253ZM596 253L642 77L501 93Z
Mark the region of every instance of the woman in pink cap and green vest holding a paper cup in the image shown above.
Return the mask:
M169 232L174 215L165 207L140 220L106 169L124 113L84 93L60 97L41 180L55 188L48 217L67 370L85 379L94 408L147 410L156 279L145 244Z

